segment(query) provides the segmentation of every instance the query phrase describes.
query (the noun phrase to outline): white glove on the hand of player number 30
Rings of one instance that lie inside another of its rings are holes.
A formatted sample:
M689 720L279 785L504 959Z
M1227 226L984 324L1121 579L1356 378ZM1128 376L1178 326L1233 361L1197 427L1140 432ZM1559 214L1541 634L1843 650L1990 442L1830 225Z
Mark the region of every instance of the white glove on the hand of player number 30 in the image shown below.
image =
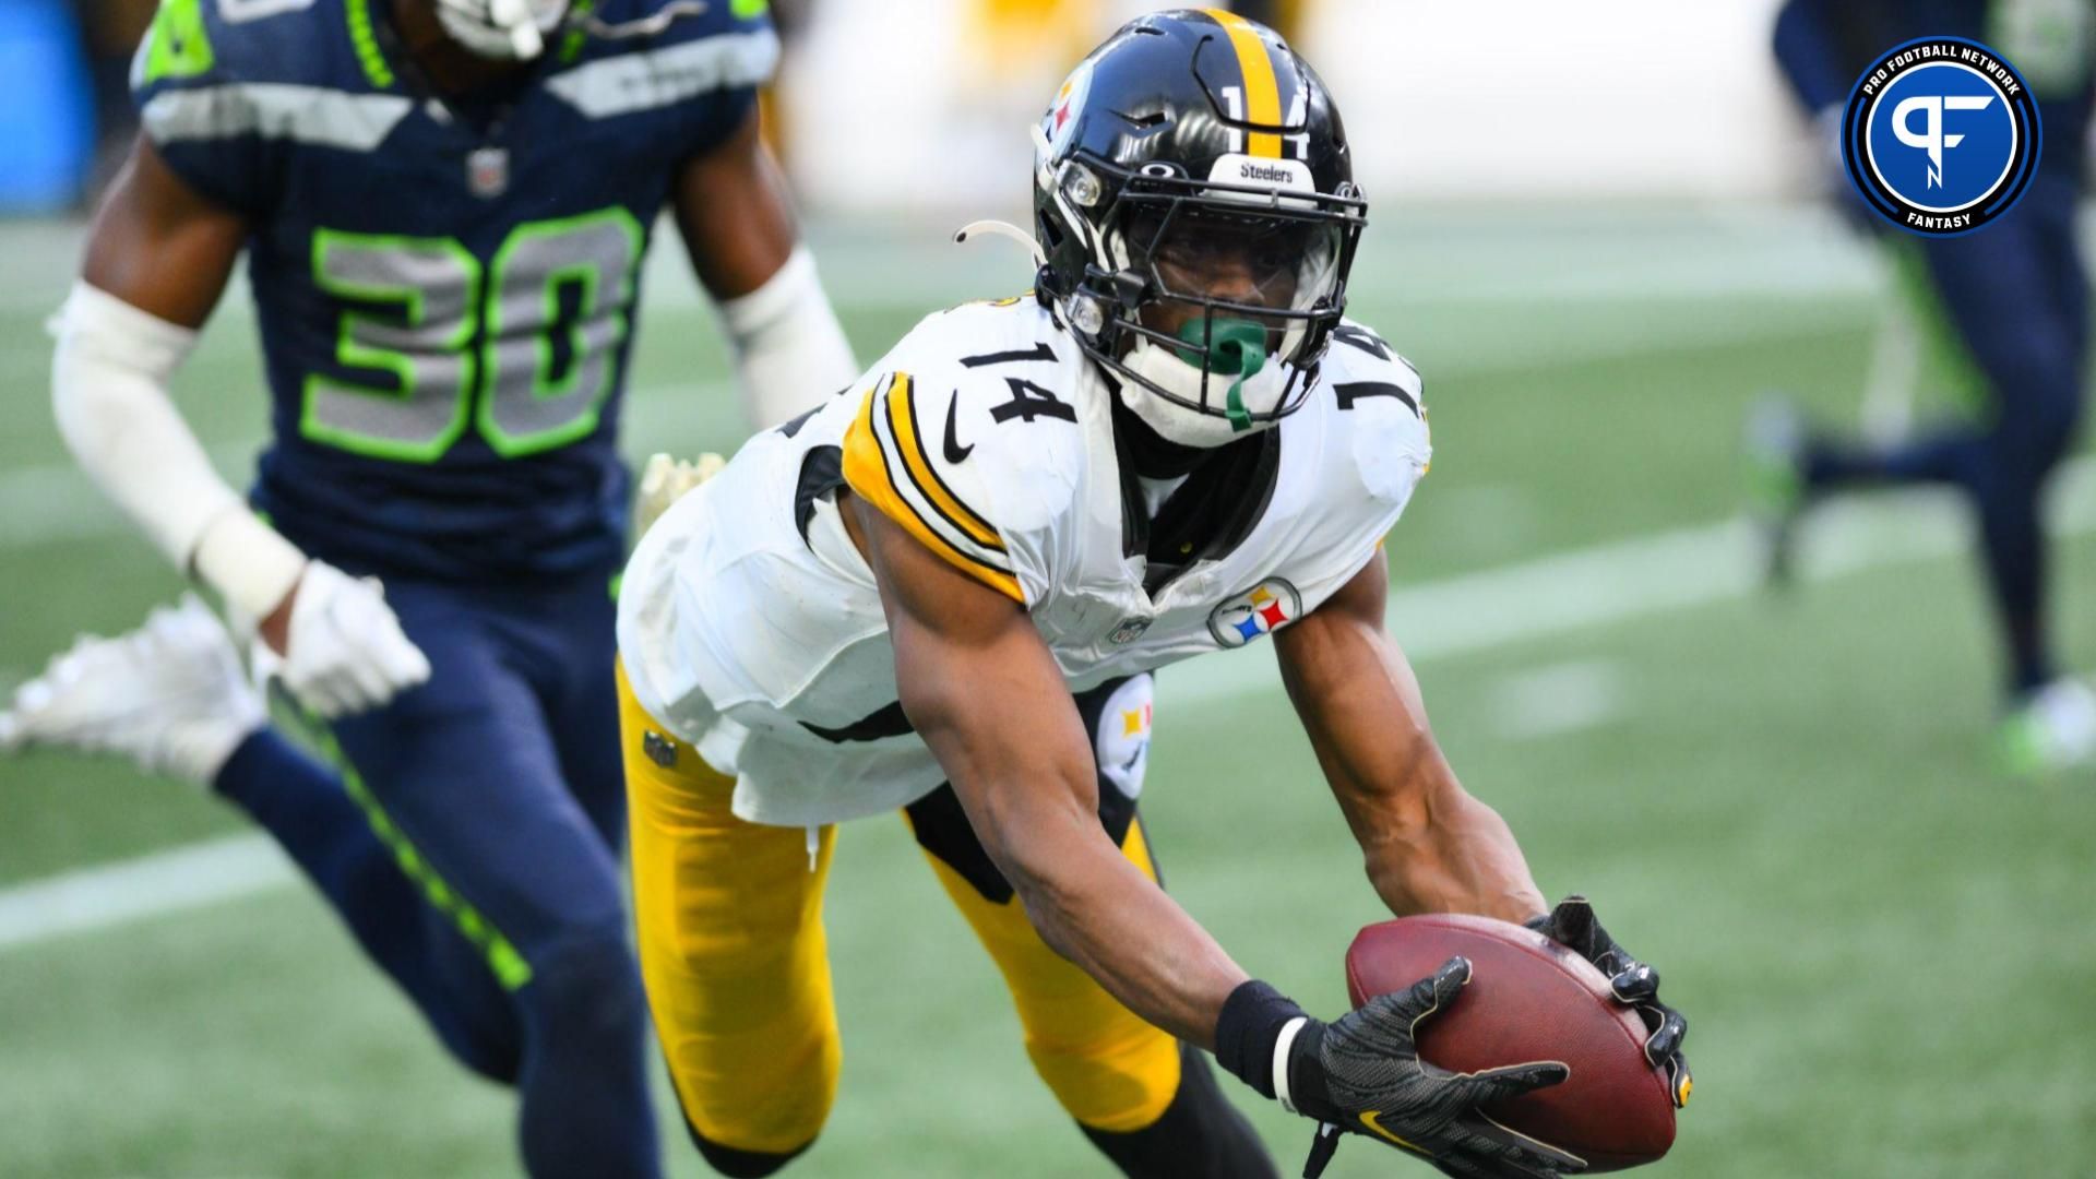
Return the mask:
M430 678L430 659L400 631L375 577L308 560L291 598L281 661L256 644L258 678L277 678L323 720L375 709Z

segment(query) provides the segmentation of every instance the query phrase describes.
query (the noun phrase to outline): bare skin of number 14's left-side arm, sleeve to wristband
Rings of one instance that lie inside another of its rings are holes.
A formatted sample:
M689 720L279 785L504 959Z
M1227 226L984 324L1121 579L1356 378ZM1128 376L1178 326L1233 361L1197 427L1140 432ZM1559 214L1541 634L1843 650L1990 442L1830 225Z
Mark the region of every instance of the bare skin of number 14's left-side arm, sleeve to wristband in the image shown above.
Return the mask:
M1214 1047L1247 976L1098 824L1084 722L1027 613L857 495L845 518L880 581L903 711L1035 929L1136 1015Z

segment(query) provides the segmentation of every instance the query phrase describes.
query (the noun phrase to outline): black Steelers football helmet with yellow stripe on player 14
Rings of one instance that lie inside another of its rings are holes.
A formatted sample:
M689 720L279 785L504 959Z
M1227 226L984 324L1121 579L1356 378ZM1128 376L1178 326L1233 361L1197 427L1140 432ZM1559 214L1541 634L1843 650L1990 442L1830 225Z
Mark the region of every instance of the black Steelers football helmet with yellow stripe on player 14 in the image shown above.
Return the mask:
M1035 132L1040 298L1182 445L1304 403L1367 210L1323 80L1222 10L1130 21Z

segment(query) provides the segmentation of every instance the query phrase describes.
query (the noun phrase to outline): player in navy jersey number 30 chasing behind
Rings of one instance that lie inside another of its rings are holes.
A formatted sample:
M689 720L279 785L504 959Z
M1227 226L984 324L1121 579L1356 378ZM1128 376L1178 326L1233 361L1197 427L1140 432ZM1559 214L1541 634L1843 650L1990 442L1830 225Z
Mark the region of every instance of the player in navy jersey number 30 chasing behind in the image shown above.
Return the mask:
M614 430L669 206L750 415L855 365L757 92L763 0L166 0L143 134L57 321L59 426L260 636L340 772L195 600L90 640L0 747L124 751L252 814L472 1070L532 1175L654 1175L612 680ZM247 254L275 438L249 497L168 380Z

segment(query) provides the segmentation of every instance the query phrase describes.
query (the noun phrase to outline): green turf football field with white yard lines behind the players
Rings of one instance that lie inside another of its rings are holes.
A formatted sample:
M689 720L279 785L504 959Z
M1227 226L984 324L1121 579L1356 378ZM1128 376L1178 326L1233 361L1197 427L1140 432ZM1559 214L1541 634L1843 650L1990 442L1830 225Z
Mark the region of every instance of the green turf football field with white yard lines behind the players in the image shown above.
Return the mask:
M1763 388L1855 413L1868 256L1819 220L1668 210L1390 216L1371 239L1356 315L1425 371L1438 443L1388 545L1394 631L1545 892L1589 892L1694 1024L1696 1103L1662 1171L2088 1175L2096 778L1989 772L1995 669L1960 518L1844 514L1782 602L1742 592L1723 529ZM75 248L71 227L0 227L0 684L178 590L50 426L38 325ZM1025 279L1004 248L956 254L937 227L817 248L868 359L920 313ZM627 449L729 447L704 313L658 262ZM235 474L264 426L256 382L249 317L228 304L180 394ZM2058 562L2083 669L2090 489L2069 489ZM1337 1013L1339 955L1375 898L1285 701L1262 692L1270 657L1214 663L1163 680L1153 845L1247 969ZM57 873L241 831L122 766L0 764L0 1175L511 1173L505 1093L442 1057L277 873L138 919L113 917L140 889L117 877L86 927L8 936L8 900L52 896L23 889ZM203 860L245 843L216 848ZM792 1175L1098 1173L899 822L845 829L828 925L847 1064ZM1228 1085L1293 1173L1308 1122ZM679 1175L700 1173L673 1116L664 1141ZM1331 1175L1427 1169L1352 1141Z

